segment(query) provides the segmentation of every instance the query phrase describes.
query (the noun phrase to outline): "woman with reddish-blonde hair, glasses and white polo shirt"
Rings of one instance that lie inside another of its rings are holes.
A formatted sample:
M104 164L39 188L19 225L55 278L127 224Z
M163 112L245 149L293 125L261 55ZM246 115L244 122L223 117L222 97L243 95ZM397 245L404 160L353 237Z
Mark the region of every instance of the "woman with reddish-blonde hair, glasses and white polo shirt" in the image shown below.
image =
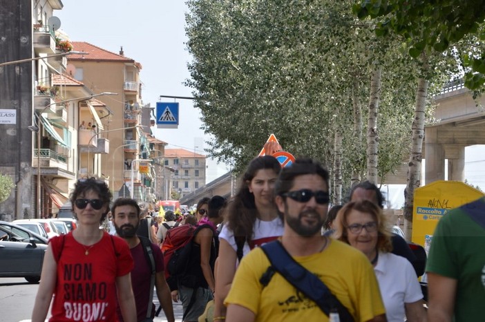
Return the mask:
M391 253L391 233L382 210L369 200L349 202L334 220L334 238L359 249L369 258L379 282L388 322L426 321L423 293L415 269Z

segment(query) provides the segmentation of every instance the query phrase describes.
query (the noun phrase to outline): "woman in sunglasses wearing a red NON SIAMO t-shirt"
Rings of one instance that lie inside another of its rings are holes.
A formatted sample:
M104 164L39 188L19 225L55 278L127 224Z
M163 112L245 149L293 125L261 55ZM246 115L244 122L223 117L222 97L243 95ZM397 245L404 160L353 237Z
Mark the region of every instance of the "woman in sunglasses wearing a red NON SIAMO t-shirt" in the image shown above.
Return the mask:
M125 322L136 321L128 244L99 229L110 201L104 181L75 184L70 202L77 228L49 240L32 321L45 321L53 298L50 321L117 321L117 303Z

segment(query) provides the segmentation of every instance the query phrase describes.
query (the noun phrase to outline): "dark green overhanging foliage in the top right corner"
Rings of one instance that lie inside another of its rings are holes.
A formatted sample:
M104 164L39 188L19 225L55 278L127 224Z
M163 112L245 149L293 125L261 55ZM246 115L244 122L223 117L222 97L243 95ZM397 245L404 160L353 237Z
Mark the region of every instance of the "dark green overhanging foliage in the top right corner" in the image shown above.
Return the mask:
M353 11L359 18L377 19L377 35L401 36L414 58L468 41L468 48L457 48L465 86L476 90L485 84L484 0L360 0Z

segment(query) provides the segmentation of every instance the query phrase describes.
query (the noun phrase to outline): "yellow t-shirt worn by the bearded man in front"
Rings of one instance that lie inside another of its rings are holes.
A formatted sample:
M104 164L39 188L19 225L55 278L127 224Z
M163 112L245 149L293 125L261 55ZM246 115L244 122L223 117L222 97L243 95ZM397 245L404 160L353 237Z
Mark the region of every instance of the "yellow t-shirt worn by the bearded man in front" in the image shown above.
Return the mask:
M368 321L386 312L374 269L359 250L331 240L323 252L294 259L321 278L356 322ZM242 258L225 305L246 307L256 314L257 322L328 321L314 301L298 292L280 274L274 274L263 287L259 280L268 267L269 260L259 247Z

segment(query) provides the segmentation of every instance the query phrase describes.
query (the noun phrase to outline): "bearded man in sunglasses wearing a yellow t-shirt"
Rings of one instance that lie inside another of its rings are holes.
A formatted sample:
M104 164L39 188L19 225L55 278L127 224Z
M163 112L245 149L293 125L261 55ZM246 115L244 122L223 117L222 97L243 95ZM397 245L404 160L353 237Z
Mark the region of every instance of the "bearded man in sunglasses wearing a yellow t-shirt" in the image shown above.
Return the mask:
M282 169L275 184L285 230L281 244L300 265L321 278L356 322L386 321L374 269L361 252L321 236L328 210L328 173L310 159ZM242 259L225 299L227 321L329 321L328 316L278 273L267 286L260 278L270 263L262 249ZM223 318L223 316L216 316Z

